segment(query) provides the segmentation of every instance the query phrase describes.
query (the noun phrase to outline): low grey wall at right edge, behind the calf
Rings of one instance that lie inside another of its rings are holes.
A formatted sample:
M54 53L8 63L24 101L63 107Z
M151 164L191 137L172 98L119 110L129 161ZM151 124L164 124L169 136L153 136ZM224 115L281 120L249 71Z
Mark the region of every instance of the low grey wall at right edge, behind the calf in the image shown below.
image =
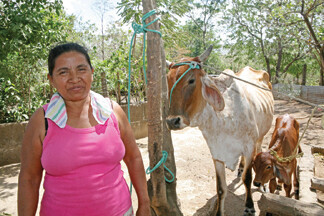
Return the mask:
M324 86L303 86L293 84L274 84L273 96L278 99L289 99L288 97L276 94L285 93L294 97L301 98L315 104L324 104Z

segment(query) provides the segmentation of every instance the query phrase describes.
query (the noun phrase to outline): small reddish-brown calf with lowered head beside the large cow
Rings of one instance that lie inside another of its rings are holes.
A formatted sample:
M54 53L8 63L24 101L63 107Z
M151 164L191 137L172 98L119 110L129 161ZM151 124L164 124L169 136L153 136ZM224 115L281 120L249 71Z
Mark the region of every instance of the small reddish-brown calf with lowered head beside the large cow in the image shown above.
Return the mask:
M297 159L294 157L302 150L298 146L299 139L299 123L292 116L285 114L276 119L275 129L266 152L260 152L253 160L253 169L255 177L253 184L257 187L269 183L270 193L277 189L278 178L279 183L284 183L286 197L290 197L292 188L291 178L294 175L295 198L299 199L299 180L297 177ZM298 148L298 152L297 152ZM275 151L279 158L290 157L286 162L280 162L271 154L271 150Z

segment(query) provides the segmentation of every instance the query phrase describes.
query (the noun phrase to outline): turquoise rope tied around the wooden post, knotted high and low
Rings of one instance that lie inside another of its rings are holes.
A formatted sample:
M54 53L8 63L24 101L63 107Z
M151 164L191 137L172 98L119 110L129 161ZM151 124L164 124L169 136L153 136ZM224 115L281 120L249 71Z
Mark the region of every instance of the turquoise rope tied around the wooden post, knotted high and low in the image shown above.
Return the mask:
M133 42L134 42L134 38L136 34L139 33L143 33L144 34L144 39L143 39L143 72L144 72L144 77L145 77L145 83L147 84L147 77L146 77L146 70L145 70L145 44L146 44L146 32L150 31L150 32L154 32L160 35L160 37L162 37L161 32L154 30L154 29L148 29L147 27L149 25L151 25L152 23L156 22L159 20L159 18L154 19L153 21L151 21L150 23L146 24L145 20L150 17L151 15L156 14L155 10L152 10L150 12L148 12L147 14L145 14L142 17L142 25L139 25L135 22L132 23L132 28L134 30L134 34L132 36L131 39L131 43L130 43L130 48L129 48L129 58L128 58L128 103L127 103L127 107L128 107L128 121L129 123L131 122L130 119L130 88L131 88L131 58L132 58L132 47L133 47ZM166 151L162 151L162 158L159 161L159 163L157 163L155 165L155 167L151 170L150 167L147 168L146 173L150 174L151 172L153 172L154 170L156 170L159 166L161 166L161 164L163 164L164 168L172 175L172 179L169 180L167 179L165 176L165 181L171 183L174 181L174 174L171 172L171 170L169 170L166 166L165 166L165 162L168 158L168 153ZM132 183L130 184L130 193L132 194Z

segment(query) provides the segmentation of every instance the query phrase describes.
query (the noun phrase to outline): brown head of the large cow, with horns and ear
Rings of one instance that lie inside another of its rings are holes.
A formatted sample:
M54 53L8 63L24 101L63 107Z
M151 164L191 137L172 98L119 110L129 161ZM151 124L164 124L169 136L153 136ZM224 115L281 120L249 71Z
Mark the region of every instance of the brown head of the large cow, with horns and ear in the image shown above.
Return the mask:
M224 99L215 83L205 74L201 66L193 67L185 62L204 62L212 51L210 46L202 55L195 58L183 58L180 62L169 64L168 88L170 111L167 118L169 129L177 130L190 125L190 120L206 104L216 111L224 109ZM192 66L192 65L191 65ZM175 85L176 83L176 85Z

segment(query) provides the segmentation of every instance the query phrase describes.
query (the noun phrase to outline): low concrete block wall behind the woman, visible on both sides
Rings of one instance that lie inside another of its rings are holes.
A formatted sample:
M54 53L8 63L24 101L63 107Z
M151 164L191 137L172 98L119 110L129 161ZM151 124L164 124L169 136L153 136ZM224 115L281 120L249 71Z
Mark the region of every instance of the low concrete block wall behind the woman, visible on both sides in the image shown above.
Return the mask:
M127 105L121 106L127 115ZM131 106L131 126L136 139L147 136L147 103ZM20 162L20 148L28 122L0 124L0 166Z

